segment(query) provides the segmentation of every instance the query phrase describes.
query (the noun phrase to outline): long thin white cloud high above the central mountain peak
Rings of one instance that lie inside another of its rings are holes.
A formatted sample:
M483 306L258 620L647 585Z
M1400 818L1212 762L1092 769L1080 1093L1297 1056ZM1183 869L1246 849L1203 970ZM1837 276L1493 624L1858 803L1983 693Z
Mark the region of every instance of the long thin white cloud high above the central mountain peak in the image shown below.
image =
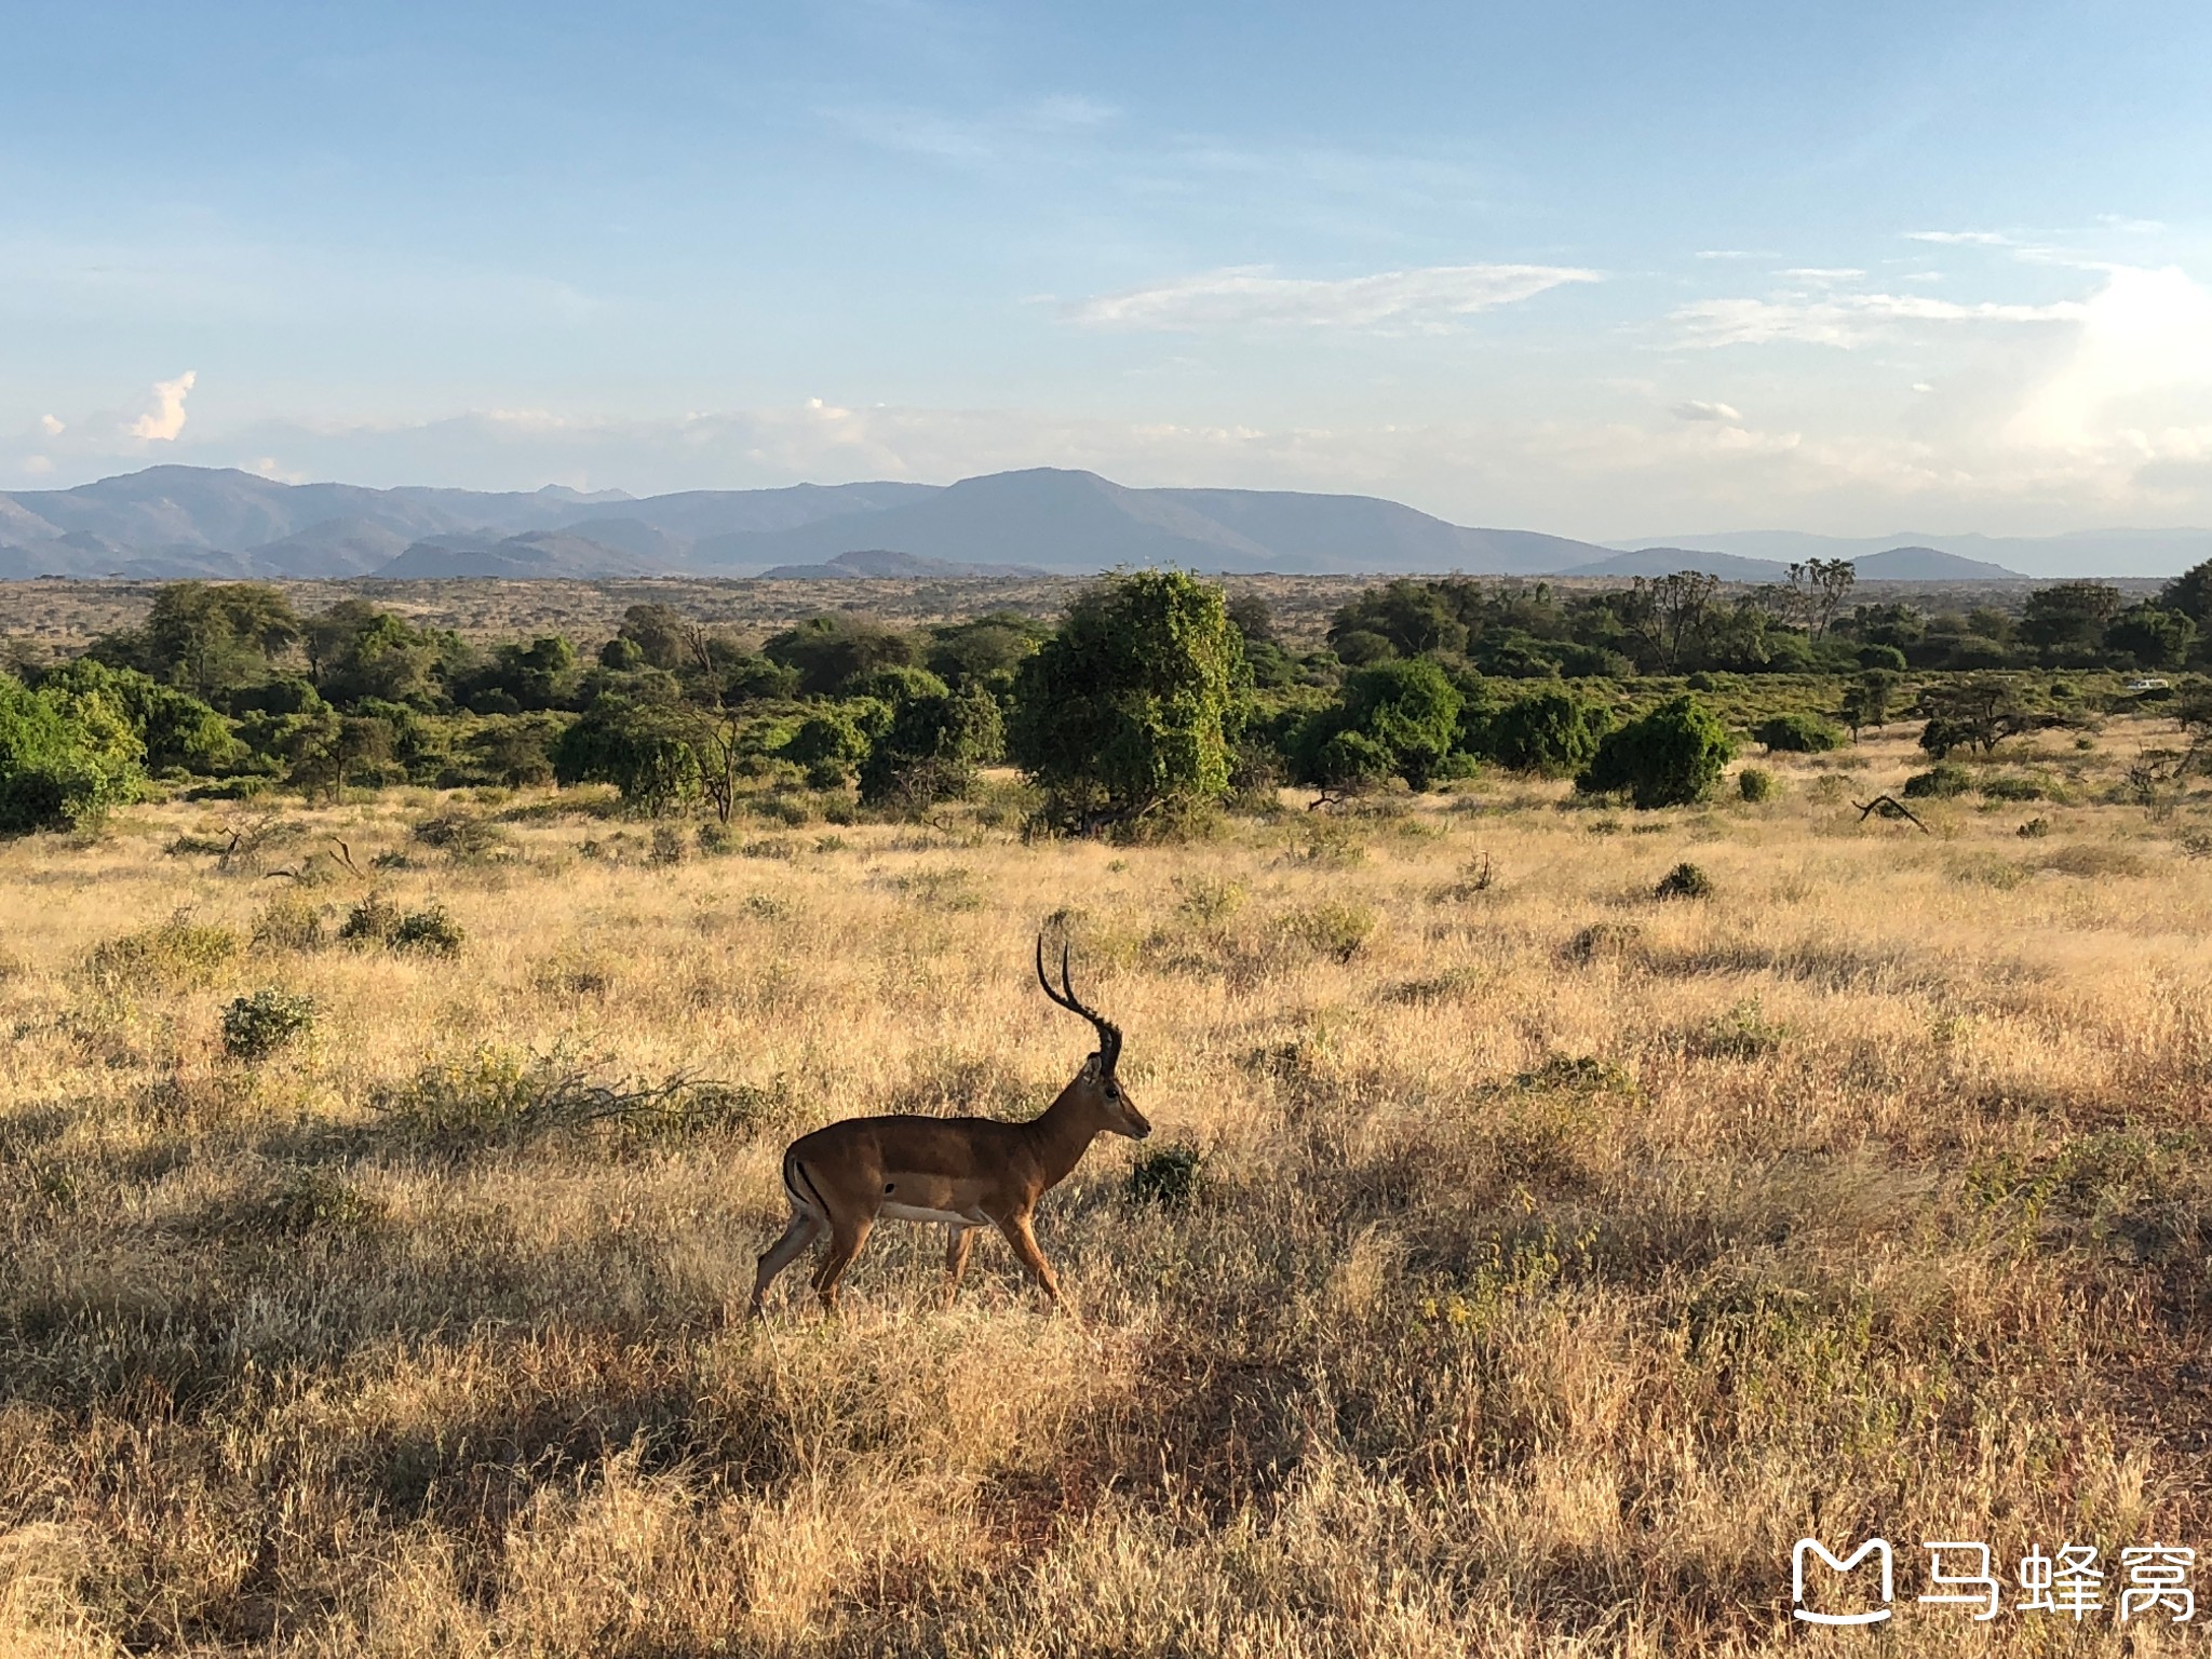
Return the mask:
M1495 305L1533 299L1562 283L1595 283L1595 270L1564 265L1425 265L1323 281L1274 276L1265 265L1210 270L1152 288L1099 294L1062 307L1084 327L1436 327Z

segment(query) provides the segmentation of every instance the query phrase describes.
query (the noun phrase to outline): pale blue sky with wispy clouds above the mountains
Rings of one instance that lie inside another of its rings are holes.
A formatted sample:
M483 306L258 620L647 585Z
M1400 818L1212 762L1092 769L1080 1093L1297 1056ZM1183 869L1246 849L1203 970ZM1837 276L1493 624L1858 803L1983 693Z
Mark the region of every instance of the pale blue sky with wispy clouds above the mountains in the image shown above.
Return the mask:
M2203 4L4 18L0 489L2212 522Z

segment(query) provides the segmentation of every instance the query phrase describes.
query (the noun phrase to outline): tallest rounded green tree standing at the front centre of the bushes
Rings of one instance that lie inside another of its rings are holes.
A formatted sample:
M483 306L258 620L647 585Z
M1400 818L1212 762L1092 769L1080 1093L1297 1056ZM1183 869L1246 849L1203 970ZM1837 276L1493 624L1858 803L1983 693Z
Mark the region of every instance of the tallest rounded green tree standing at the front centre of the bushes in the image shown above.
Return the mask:
M1020 666L1006 750L1064 825L1219 801L1250 679L1219 586L1186 571L1113 575Z

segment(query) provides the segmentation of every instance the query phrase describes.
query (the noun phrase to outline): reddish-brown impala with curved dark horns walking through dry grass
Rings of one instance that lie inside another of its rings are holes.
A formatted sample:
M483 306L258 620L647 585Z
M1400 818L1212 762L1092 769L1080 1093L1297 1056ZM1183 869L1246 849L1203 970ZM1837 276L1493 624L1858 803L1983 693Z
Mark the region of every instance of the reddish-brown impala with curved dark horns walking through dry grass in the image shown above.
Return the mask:
M783 1152L783 1197L792 1223L761 1256L752 1281L752 1316L768 1305L776 1274L812 1245L830 1237L830 1250L814 1270L814 1292L823 1307L836 1307L836 1285L867 1243L878 1217L891 1221L940 1221L945 1248L945 1301L960 1294L975 1228L998 1228L1053 1305L1060 1281L1037 1250L1029 1219L1037 1199L1068 1179L1091 1141L1102 1133L1144 1139L1144 1121L1121 1084L1121 1031L1086 1009L1068 980L1068 953L1060 951L1060 989L1044 973L1044 940L1037 938L1037 984L1057 1006L1079 1013L1099 1033L1097 1053L1084 1060L1051 1106L1026 1124L993 1117L847 1117L812 1135L801 1135Z

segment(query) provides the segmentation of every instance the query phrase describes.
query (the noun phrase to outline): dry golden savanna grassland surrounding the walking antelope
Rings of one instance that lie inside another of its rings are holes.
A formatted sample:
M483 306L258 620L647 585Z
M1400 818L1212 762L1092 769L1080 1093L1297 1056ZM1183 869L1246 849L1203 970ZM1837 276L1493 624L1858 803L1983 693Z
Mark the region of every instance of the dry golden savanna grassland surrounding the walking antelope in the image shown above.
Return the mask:
M2170 721L2084 741L1931 834L1851 807L1900 732L1175 845L1024 843L1011 783L7 843L0 1652L1885 1641L1790 1621L1805 1533L1898 1544L1885 1650L2181 1650L2110 1604L2212 1544L2212 841L2110 796ZM995 1239L940 1310L887 1223L841 1318L737 1318L785 1139L1075 1071L1040 929L1157 1126L1042 1208L1079 1316ZM2108 1608L1916 1606L1960 1537L2099 1544Z

